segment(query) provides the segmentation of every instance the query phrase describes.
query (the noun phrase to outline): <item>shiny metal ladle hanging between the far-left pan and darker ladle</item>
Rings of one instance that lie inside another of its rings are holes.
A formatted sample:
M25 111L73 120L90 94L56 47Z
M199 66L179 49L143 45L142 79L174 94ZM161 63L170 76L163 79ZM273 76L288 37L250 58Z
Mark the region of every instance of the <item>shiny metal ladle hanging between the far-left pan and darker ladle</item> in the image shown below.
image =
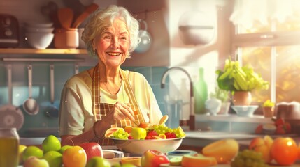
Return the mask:
M29 115L36 115L39 111L39 106L36 100L32 98L32 65L28 65L28 90L29 90L29 97L23 103L23 109Z

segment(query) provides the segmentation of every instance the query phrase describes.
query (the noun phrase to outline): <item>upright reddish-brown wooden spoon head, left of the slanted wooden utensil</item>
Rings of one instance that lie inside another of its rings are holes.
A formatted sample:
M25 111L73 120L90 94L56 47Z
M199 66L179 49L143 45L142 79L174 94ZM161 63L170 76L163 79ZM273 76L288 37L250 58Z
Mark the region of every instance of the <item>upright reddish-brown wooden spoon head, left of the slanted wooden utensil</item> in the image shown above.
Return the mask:
M73 15L73 10L71 8L59 8L59 10L57 10L57 17L64 29L71 28Z

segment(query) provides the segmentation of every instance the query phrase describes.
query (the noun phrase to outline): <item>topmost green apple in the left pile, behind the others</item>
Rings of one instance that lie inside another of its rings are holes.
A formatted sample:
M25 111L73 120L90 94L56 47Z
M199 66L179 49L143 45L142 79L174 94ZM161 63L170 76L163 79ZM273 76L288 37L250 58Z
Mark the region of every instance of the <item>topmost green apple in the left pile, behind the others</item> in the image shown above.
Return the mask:
M49 135L43 140L42 148L44 152L59 151L62 145L57 137Z

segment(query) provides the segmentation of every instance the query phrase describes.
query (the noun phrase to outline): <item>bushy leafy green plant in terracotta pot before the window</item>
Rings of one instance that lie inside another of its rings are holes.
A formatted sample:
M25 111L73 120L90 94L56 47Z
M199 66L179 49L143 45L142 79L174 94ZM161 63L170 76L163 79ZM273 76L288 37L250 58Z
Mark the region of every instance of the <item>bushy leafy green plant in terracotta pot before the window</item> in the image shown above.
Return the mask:
M251 90L268 89L269 82L254 72L250 65L241 66L238 61L225 61L224 70L217 70L217 85L222 90L231 92L235 105L250 105Z

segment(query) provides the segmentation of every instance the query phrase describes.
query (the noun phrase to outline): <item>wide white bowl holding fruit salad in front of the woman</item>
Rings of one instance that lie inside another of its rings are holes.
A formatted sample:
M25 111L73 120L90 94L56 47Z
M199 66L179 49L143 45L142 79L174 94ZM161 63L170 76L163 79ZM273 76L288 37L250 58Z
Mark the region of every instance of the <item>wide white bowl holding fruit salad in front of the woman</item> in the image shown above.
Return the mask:
M184 138L184 137L183 137ZM149 140L124 140L111 138L122 152L142 155L147 150L157 150L163 153L171 152L179 148L183 138L149 139Z

